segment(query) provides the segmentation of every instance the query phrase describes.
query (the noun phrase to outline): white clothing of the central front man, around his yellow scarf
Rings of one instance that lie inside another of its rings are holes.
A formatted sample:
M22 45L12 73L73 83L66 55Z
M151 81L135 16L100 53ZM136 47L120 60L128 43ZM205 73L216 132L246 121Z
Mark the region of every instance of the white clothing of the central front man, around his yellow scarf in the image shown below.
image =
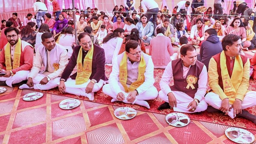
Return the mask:
M104 85L103 92L106 95L111 96L115 101L117 101L117 94L122 92L125 95L125 98L128 96L128 93L124 91L123 86L119 81L119 67L120 61L123 58L123 54L117 56L114 60L112 72L109 76L109 84ZM145 81L141 84L136 90L138 91L139 95L136 96L136 100L132 104L139 104L142 106L146 106L149 108L149 105L144 100L152 100L157 97L157 89L153 86L154 84L154 66L150 56L146 54L142 54L145 62L146 62L146 71L144 73ZM133 82L135 82L138 78L138 65L139 62L134 62L133 64L127 59L127 86L129 87ZM140 101L143 100L144 102ZM124 103L129 103L127 100L123 101Z

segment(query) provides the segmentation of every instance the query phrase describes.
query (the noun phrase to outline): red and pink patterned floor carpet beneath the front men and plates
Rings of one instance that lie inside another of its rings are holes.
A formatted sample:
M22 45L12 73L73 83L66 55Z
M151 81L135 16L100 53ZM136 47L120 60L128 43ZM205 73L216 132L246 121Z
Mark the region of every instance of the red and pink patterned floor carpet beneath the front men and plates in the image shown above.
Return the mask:
M111 69L106 66L109 75ZM156 69L155 87L163 70ZM185 127L168 126L165 114L157 111L160 99L150 101L148 110L138 105L110 104L110 97L102 91L94 101L74 95L59 95L57 89L44 91L37 101L23 101L22 96L34 92L17 87L6 87L0 95L0 144L232 144L224 132L231 126L248 129L256 136L256 126L242 118L230 119L221 113L190 114L191 122ZM250 81L250 90L256 82ZM81 105L62 110L58 104L69 97L78 98ZM113 112L120 106L136 108L131 120L119 120ZM256 107L248 109L256 114ZM256 141L253 142L256 144Z

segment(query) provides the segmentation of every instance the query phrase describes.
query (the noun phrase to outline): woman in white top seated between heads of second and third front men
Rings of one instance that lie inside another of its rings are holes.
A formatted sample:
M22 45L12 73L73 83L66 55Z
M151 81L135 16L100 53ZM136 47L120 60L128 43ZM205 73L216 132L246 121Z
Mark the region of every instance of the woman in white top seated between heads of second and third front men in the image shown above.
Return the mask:
M55 36L56 43L64 46L68 50L68 58L73 53L72 47L75 46L75 35L73 34L72 26L68 26L62 29L61 33Z

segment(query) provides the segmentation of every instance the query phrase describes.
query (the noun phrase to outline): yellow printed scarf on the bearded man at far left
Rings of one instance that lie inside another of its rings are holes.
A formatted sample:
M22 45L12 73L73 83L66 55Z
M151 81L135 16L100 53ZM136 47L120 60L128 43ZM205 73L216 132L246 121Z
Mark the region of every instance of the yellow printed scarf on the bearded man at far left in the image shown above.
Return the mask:
M6 65L6 70L10 71L12 69L16 69L20 67L20 60L21 60L21 39L18 40L15 46L15 51L14 51L14 58L13 58L13 66L11 66L11 52L10 52L10 43L8 42L6 44L6 49L5 49L5 65Z

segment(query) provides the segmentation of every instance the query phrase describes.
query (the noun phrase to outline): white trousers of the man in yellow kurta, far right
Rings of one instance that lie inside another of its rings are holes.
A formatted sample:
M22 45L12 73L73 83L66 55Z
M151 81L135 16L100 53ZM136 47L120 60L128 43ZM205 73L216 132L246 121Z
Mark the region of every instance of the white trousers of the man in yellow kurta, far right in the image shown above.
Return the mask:
M242 102L242 109L246 109L248 107L253 107L256 102L256 91L250 91L248 93L245 94L245 97L243 99ZM205 101L206 103L208 103L209 105L211 105L212 107L219 109L222 103L222 100L219 98L219 95L217 95L214 92L209 92L206 94L205 96ZM231 106L231 104L230 104ZM233 108L230 109L230 112L228 113L228 115L233 119L234 118L234 110Z

